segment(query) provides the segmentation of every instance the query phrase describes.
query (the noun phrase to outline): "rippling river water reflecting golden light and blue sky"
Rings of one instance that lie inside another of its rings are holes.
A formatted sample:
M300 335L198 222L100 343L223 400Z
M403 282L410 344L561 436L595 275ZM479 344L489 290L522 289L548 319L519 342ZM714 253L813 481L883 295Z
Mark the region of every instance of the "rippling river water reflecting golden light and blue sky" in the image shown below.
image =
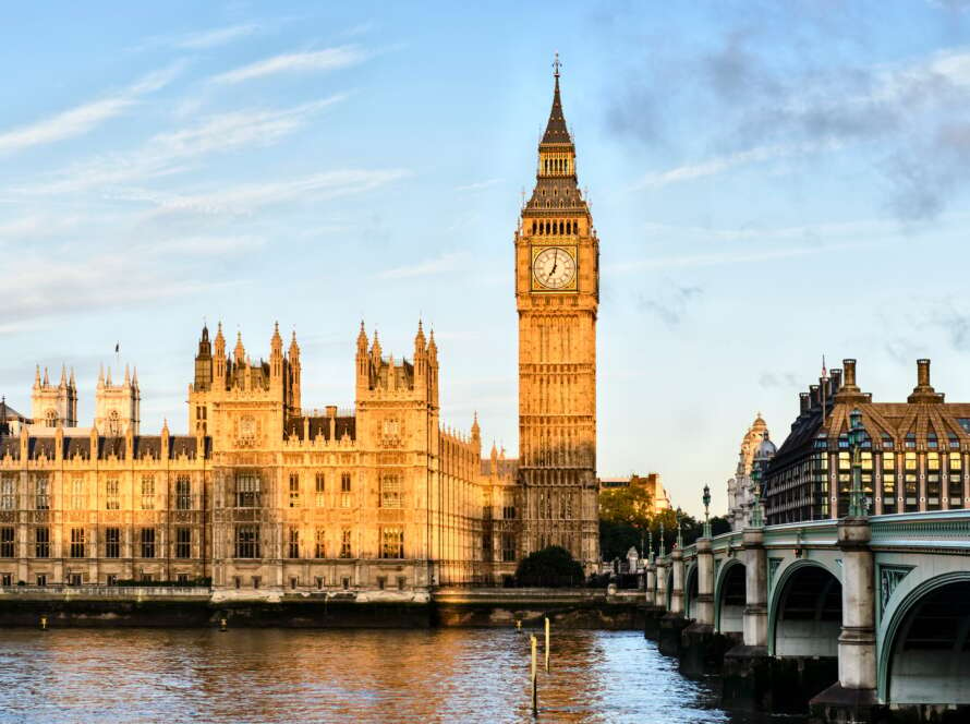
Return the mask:
M538 721L802 721L717 709L636 631L551 654ZM495 629L0 629L0 722L530 722L529 657Z

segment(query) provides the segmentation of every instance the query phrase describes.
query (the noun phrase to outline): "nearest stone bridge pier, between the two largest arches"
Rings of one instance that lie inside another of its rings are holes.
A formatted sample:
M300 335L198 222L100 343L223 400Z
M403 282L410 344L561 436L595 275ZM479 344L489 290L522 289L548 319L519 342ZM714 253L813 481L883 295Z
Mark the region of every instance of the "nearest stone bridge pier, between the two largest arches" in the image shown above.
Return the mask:
M813 715L825 722L874 721L876 698L874 560L868 518L838 523L842 555L842 628L838 639L838 683L814 697Z

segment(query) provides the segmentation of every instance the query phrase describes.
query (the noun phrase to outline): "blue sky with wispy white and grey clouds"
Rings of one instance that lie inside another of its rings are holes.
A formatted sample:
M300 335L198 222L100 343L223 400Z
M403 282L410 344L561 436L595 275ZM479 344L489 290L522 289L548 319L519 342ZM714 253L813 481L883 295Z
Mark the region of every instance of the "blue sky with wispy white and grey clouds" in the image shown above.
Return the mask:
M468 3L463 3L468 4ZM307 407L361 319L435 330L446 424L516 455L513 241L551 101L601 240L598 471L723 512L761 411L859 360L970 399L970 2L21 3L0 27L0 393L136 365L187 429L205 322ZM114 346L120 343L117 360Z

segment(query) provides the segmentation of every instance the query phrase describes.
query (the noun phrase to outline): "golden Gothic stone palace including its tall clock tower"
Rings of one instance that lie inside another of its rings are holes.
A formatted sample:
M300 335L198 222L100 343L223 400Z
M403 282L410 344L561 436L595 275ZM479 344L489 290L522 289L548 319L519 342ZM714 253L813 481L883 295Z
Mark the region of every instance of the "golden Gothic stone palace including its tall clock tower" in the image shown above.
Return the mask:
M295 334L268 362L203 328L187 435L140 430L137 374L101 374L78 426L73 372L0 403L0 586L201 582L223 595L498 582L547 545L599 558L598 240L559 97L514 233L519 451L483 457L439 418L434 334L410 359L363 324L354 408L311 410ZM235 593L235 591L239 593ZM257 593L254 593L256 591Z

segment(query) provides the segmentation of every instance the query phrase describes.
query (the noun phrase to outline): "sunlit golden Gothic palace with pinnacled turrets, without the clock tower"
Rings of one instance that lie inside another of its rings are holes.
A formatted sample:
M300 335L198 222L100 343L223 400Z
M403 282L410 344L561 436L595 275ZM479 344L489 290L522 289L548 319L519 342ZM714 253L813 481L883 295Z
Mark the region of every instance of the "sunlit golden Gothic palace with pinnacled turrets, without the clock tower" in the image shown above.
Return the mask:
M254 363L241 336L227 353L221 327L203 329L189 436L138 435L101 405L112 434L63 410L53 426L0 431L0 583L420 598L514 570L514 464L495 449L482 460L477 420L442 427L434 335L419 325L411 359L395 359L362 326L350 411L301 407L295 335L284 352L274 330L269 347ZM124 384L133 412L136 381Z

